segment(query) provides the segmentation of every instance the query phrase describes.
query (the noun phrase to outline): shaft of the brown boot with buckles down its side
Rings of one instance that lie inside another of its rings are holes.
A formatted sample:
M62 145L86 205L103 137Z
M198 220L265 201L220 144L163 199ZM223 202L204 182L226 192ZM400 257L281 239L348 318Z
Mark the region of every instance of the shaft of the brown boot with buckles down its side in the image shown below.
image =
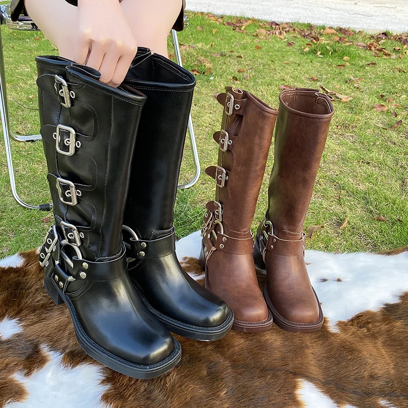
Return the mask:
M240 238L250 236L278 112L245 90L226 87L225 91L217 96L225 107L222 130L214 134L220 145L218 167L206 172L217 182L216 201L222 205L225 233Z

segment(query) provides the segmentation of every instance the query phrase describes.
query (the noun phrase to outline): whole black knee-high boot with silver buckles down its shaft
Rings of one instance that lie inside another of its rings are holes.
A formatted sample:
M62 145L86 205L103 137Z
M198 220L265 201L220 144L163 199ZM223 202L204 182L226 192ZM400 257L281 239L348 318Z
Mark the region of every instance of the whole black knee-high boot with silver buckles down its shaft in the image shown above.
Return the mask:
M39 256L45 289L66 303L95 360L136 378L160 375L180 361L181 347L134 290L121 234L146 96L59 57L38 57L37 66L55 216Z

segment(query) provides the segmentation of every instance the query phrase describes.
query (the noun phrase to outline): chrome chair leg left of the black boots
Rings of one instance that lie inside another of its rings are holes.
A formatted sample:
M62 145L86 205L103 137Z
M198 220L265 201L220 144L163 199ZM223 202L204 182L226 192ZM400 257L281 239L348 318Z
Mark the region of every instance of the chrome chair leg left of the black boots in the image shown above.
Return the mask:
M3 136L4 136L4 144L6 148L6 157L7 157L7 167L9 170L9 178L10 178L10 185L11 185L11 192L13 194L14 199L19 203L20 206L32 209L32 210L43 210L48 211L52 207L52 204L40 204L40 205L30 205L27 202L24 202L18 195L16 189L16 181L14 176L14 167L13 167L13 159L11 155L11 145L10 145L10 138L13 138L20 142L28 142L34 140L40 140L40 135L29 135L29 136L18 136L15 135L10 130L10 118L9 118L9 107L7 103L7 89L6 89L6 73L4 67L4 55L3 55L3 40L2 40L2 32L0 30L0 114L2 117L2 127L3 127Z

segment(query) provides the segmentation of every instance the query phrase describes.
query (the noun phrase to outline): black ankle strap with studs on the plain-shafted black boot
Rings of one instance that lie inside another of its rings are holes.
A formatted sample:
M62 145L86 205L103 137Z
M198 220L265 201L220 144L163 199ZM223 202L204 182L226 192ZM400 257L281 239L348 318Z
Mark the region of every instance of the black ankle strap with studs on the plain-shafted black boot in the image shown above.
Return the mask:
M130 257L137 260L163 258L175 251L174 233L167 237L151 241L136 241L134 238L131 238L130 244Z

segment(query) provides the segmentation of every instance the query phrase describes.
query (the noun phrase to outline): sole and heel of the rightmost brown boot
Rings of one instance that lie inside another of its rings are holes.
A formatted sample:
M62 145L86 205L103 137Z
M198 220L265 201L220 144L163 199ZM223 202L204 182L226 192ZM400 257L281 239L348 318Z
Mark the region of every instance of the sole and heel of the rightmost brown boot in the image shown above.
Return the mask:
M263 260L263 257L261 255L261 249L258 245L258 240L255 241L255 246L253 250L253 260L255 262L255 266L259 269L266 269L265 262ZM314 333L315 331L318 331L321 329L323 326L324 322L324 316L322 312L322 308L319 302L319 298L317 297L317 294L315 290L312 288L313 293L315 294L316 301L319 307L319 319L316 322L313 323L295 323L291 322L287 319L285 319L283 316L281 316L278 311L273 307L272 301L269 298L268 291L267 291L267 286L265 282L265 287L264 287L264 298L266 301L266 304L268 305L268 309L272 313L273 316L273 322L280 328L286 331L291 331L293 333Z

